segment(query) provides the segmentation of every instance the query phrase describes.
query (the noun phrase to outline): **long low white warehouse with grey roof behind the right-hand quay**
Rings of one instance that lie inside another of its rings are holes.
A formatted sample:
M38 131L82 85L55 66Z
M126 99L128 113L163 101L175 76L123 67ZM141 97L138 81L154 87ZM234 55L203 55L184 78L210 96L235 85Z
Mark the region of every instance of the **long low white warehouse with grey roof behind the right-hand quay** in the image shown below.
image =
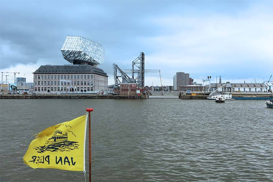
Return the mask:
M263 83L217 83L211 84L211 91L215 91L220 86L224 87L220 88L218 91L227 91L227 92L263 92L264 91L264 85ZM265 88L267 86L265 85ZM205 90L209 91L209 85L205 86Z

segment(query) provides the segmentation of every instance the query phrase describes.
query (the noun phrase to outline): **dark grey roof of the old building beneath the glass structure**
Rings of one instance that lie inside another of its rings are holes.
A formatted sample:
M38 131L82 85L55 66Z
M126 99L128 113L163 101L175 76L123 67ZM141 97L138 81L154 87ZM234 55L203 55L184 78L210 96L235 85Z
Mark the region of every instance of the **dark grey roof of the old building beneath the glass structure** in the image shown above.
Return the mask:
M103 76L107 76L102 69L97 68L91 65L74 65L74 64L65 64L65 65L42 65L33 73L95 73ZM108 76L107 76L108 77Z

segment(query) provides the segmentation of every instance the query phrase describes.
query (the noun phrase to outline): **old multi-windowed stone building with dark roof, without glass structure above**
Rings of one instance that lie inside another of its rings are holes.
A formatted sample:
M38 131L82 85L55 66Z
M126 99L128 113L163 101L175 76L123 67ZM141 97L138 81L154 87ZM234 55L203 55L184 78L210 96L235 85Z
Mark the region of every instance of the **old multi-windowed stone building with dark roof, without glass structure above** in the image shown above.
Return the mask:
M107 74L91 65L42 65L33 74L35 93L98 93L108 85Z

